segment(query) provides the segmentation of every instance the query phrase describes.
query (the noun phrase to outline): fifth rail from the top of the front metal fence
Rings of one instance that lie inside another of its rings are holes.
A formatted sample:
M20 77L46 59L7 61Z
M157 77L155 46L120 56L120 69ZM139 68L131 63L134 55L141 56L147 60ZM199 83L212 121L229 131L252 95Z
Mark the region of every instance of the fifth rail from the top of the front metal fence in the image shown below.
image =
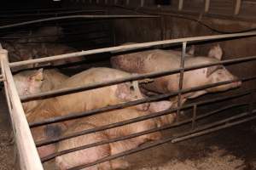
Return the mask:
M196 120L205 118L207 116L212 116L212 115L217 114L218 112L221 112L221 111L225 111L225 110L228 110L228 109L231 109L231 108L234 108L234 107L240 107L240 106L244 106L244 105L247 105L247 104L228 105L228 106L220 108L220 109L218 109L216 111L211 111L211 112L208 112L207 114L198 116ZM62 150L62 151L56 152L56 153L54 153L52 155L43 157L41 159L41 161L42 162L49 161L51 159L54 159L56 156L61 156L61 155L64 155L64 154L67 154L67 153L70 153L70 152L73 152L73 151L85 150L85 149L88 149L88 148L91 148L91 147L95 147L95 146L98 146L98 145L117 142L119 140L136 138L136 137L142 136L144 134L154 133L154 132L157 132L157 131L166 130L166 129L171 128L171 127L181 126L183 124L187 124L187 123L192 122L192 121L193 121L193 119L190 118L189 120L185 120L185 121L182 121L182 122L176 122L176 123L173 123L171 125L166 125L166 126L162 126L162 127L157 127L157 128L154 128L154 129L150 129L150 130L147 130L147 131L140 132L140 133L132 133L131 135L126 135L126 136L122 136L122 137L119 137L119 138L104 140L104 141L96 142L96 143L93 143L93 144L86 144L86 145L82 145L82 146L79 146L77 148L73 148L73 149L69 149L69 150ZM40 145L37 144L37 146L40 146Z

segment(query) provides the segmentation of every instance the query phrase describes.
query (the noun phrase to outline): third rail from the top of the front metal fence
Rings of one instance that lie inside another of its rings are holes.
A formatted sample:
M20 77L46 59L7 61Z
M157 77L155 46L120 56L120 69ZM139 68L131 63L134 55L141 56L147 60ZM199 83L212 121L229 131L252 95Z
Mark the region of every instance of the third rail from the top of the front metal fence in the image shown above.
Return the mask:
M252 79L256 79L255 77L247 77L247 78L243 78L242 81L248 81L248 80L252 80ZM200 87L196 87L196 88L187 88L187 89L183 89L182 93L189 93L192 91L198 91L200 89L204 89L204 88L212 88L212 87L216 87L217 85L224 85L224 84L228 84L230 82L237 82L237 80L233 80L233 81L226 81L226 82L217 82L214 84L208 84L205 86L200 86ZM120 108L125 108L128 106L132 106L132 105L139 105L139 104L143 104L146 102L152 102L155 100L159 100L159 99L165 99L167 97L171 97L174 95L177 95L178 91L175 93L169 93L169 94L160 94L154 97L148 97L145 99L138 99L135 101L131 101L131 102L126 102L124 104L119 104L119 105L111 105L111 106L107 106L107 107L102 107L96 110L92 110L92 111L84 111L82 113L72 113L72 114L68 114L66 116L57 116L57 117L53 117L53 118L49 118L49 119L45 119L44 121L41 122L32 122L30 123L30 127L37 127L37 126L41 126L41 125L45 125L45 124L49 124L49 123L53 123L53 122L62 122L62 121L66 121L66 120L71 120L71 119L75 119L75 118L79 118L79 117L83 117L83 116L90 116L93 114L98 114L98 113L102 113L103 111L112 111L113 109L120 109ZM177 111L177 110L175 110Z

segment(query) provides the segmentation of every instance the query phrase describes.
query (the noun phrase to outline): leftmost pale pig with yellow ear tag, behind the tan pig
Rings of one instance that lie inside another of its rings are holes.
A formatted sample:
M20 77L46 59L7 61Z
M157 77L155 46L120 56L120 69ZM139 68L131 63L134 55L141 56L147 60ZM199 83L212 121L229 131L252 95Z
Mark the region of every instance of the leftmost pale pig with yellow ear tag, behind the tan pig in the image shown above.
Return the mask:
M66 75L55 69L20 71L14 76L15 85L20 96L37 94L55 89L67 78ZM42 99L29 100L23 102L22 106L27 113L36 108L41 102Z

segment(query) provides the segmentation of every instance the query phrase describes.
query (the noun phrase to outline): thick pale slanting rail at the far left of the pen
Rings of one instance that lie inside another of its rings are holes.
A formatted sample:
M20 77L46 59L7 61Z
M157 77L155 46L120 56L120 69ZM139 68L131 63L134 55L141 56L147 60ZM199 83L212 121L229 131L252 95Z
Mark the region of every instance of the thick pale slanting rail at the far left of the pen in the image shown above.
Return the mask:
M9 92L9 100L12 104L10 116L15 133L15 142L19 150L20 168L26 170L43 170L36 145L32 139L32 133L26 121L20 97L15 88L15 81L9 68L8 52L0 49L0 59L7 86L4 88Z

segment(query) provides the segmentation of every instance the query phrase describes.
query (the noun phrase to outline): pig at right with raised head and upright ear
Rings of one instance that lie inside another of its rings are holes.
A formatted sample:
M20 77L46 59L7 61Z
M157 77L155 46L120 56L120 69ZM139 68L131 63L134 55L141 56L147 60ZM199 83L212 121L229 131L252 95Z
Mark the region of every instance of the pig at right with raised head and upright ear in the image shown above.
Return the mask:
M186 55L185 67L216 63L221 60L223 55L222 48L219 45L214 46L205 56ZM114 68L131 73L149 73L156 71L167 71L177 69L180 66L181 56L172 51L165 50L148 50L145 52L137 52L132 54L121 54L113 56L111 63ZM154 82L144 85L144 88L160 94L175 92L178 90L179 73L166 77L155 78ZM193 71L185 71L183 75L183 89L195 88L216 82L224 82L236 80L237 77L232 75L230 71L224 68L223 65L210 66L207 68L196 69ZM202 94L225 91L230 88L237 88L241 82L232 82L230 84L221 85L214 88L207 88L197 92L191 92L182 95L182 101L193 99ZM177 103L177 100L173 101Z

